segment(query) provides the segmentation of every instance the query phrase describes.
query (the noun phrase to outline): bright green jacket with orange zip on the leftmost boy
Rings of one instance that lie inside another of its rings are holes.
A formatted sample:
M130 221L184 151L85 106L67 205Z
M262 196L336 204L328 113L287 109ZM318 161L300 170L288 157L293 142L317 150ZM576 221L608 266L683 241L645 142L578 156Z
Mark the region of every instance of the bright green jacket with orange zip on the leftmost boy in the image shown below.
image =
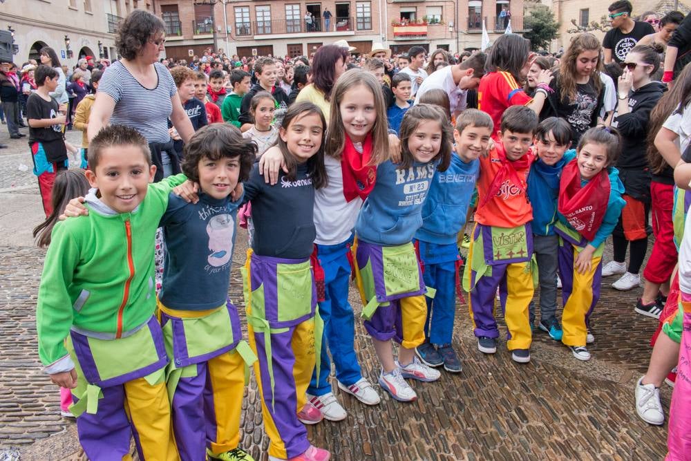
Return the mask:
M151 319L156 228L168 196L185 176L150 184L131 213L117 213L86 196L88 216L57 223L39 286L39 357L49 374L74 365L64 346L70 329L90 337L127 337Z

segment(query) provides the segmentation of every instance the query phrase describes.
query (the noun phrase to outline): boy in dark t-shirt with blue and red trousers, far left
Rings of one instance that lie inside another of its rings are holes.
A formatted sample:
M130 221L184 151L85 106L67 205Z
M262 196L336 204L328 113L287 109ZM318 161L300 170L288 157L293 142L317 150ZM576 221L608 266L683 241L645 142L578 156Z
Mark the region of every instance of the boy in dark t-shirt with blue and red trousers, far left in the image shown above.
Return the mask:
M66 121L66 106L59 106L50 92L57 88L57 70L38 66L34 73L38 89L26 101L26 118L29 123L29 147L34 162L34 174L39 179L39 191L46 217L53 213L50 196L55 174L67 169L67 149L62 134Z

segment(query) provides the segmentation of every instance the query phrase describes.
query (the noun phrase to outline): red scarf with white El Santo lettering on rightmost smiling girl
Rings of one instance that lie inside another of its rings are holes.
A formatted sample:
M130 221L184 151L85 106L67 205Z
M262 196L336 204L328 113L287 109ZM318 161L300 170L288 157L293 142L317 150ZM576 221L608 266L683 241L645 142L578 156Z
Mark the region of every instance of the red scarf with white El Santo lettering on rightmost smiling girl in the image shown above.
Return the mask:
M583 187L580 186L580 172L576 159L571 160L562 171L559 212L565 216L571 227L588 241L595 238L603 223L610 189L612 185L609 184L609 176L604 169Z

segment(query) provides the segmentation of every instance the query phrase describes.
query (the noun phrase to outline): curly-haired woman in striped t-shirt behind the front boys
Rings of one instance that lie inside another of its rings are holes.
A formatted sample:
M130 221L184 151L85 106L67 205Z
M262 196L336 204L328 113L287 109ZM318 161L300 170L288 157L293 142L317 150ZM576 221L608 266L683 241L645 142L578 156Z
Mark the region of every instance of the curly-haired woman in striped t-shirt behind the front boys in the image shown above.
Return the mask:
M180 172L168 119L183 142L194 133L171 73L158 62L165 42L163 21L150 12L134 10L120 23L115 46L122 59L99 82L87 128L90 141L108 124L139 131L149 142L156 181Z

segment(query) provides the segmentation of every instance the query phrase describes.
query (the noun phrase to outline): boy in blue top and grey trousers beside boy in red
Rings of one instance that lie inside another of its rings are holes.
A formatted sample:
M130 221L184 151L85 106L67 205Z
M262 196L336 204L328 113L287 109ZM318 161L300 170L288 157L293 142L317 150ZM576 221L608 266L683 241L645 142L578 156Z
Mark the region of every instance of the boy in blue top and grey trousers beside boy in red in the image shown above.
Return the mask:
M555 317L557 303L557 254L559 236L554 232L557 218L559 180L564 165L574 160L571 146L571 127L558 117L549 117L538 125L534 146L538 160L528 175L528 198L533 204L533 252L538 263L540 282L540 323L538 328L561 341L562 329ZM535 326L535 303L530 301L531 330Z

